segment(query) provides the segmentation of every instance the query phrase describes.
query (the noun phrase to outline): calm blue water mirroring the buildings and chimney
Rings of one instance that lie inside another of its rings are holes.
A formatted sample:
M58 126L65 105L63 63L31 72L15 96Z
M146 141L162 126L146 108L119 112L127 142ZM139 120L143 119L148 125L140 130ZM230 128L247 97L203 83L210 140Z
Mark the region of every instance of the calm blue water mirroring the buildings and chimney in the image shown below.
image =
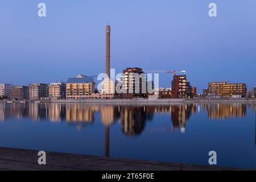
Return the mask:
M255 105L0 103L0 146L256 168Z

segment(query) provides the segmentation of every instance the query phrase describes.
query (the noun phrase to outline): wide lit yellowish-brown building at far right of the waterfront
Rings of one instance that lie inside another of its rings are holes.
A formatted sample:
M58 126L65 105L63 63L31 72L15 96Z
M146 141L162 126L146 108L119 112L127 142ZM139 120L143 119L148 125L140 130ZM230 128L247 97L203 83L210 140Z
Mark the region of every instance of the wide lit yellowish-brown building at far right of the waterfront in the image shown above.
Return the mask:
M220 97L246 97L247 86L243 83L230 84L229 82L209 82L208 86L209 94L215 94Z

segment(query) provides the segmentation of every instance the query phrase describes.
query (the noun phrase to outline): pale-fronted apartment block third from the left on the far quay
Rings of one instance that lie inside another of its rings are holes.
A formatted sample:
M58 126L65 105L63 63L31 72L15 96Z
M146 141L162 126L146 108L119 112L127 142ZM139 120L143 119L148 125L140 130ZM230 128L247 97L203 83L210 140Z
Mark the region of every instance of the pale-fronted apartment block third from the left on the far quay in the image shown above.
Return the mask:
M42 98L48 97L48 85L47 84L30 84L28 85L29 99L36 101Z

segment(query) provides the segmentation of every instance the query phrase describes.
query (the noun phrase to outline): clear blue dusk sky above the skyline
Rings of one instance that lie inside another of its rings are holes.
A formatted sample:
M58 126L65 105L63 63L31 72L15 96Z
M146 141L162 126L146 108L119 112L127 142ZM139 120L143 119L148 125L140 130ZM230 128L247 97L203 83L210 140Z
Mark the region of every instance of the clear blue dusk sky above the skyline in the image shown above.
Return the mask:
M38 17L38 3L47 17ZM208 16L210 2L217 17ZM255 0L0 0L0 82L66 81L111 68L183 70L199 91L209 81L256 86ZM161 74L170 86L172 75Z

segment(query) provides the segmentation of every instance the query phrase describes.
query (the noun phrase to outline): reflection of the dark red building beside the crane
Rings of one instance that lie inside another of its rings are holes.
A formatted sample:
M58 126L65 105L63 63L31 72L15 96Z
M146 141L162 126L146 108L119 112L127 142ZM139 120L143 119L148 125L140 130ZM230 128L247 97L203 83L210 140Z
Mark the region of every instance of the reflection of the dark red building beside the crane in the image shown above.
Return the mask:
M185 131L185 124L192 113L196 112L195 104L174 105L171 106L172 127L180 128L181 132Z

